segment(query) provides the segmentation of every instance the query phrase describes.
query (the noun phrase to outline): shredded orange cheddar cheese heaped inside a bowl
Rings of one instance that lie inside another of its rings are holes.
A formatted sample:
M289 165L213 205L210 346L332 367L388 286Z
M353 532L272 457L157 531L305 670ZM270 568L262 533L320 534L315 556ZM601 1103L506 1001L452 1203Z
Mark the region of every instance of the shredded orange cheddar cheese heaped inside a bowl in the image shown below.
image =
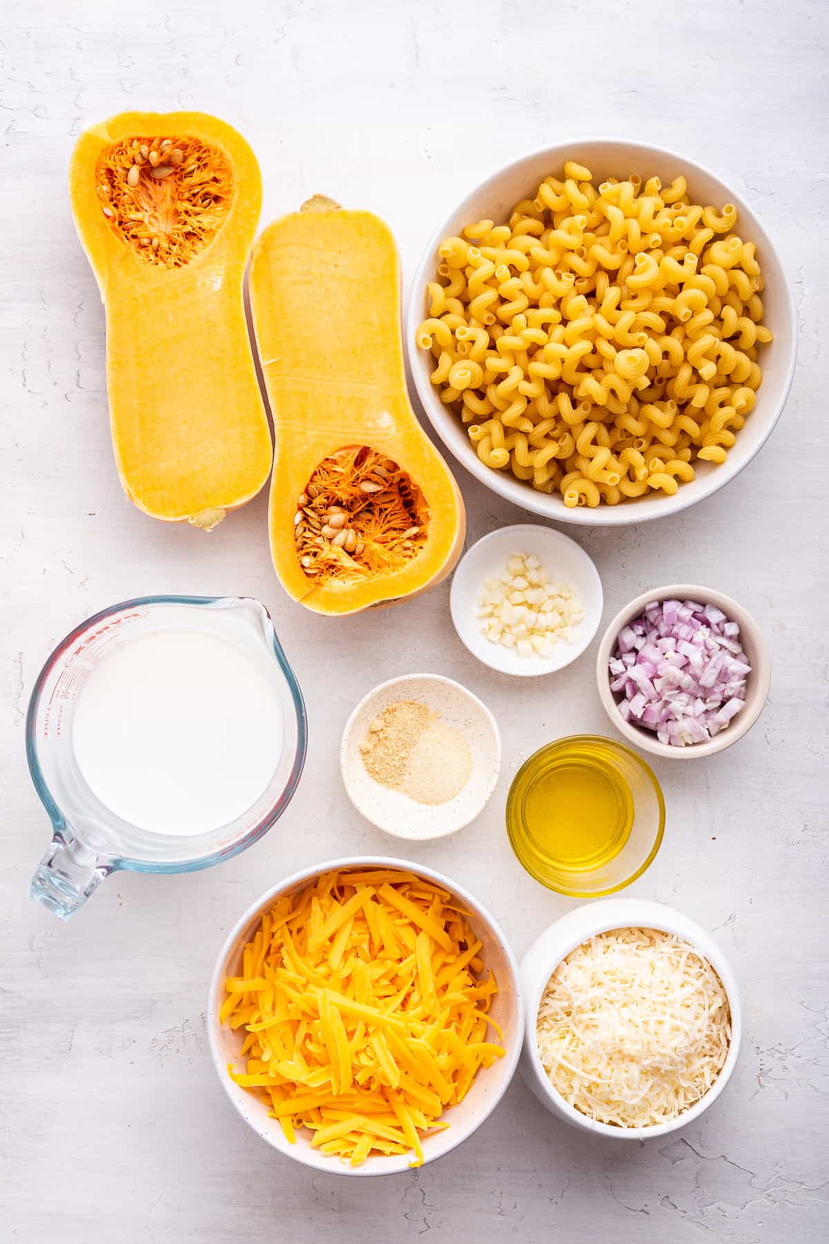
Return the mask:
M244 1071L287 1141L359 1166L411 1153L503 1056L481 943L451 894L410 872L322 873L278 898L225 982ZM245 1060L245 1055L247 1055Z

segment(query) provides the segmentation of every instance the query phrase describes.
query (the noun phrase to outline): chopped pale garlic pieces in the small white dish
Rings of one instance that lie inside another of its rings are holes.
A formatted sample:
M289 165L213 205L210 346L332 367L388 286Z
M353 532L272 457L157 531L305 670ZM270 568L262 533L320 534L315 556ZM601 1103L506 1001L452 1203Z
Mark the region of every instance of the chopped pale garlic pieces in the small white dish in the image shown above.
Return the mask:
M520 657L549 657L559 639L572 638L583 613L569 583L553 583L534 554L516 552L501 578L487 578L477 602L481 631L491 643Z

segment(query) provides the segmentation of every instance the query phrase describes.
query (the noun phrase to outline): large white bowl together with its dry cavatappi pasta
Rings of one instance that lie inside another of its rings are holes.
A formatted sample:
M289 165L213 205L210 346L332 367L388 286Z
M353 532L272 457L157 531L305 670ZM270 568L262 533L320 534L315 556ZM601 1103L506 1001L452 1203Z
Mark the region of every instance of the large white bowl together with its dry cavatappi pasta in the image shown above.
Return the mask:
M792 384L797 317L728 185L659 147L584 139L500 169L440 225L406 345L472 475L546 518L620 526L751 462Z

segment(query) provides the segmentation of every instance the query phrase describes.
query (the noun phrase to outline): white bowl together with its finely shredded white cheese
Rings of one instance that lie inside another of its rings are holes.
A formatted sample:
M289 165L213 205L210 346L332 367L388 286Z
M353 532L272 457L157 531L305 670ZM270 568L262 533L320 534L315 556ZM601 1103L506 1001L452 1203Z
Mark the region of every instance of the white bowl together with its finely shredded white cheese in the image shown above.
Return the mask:
M579 907L536 939L521 978L522 1076L575 1127L664 1136L731 1077L737 982L711 934L675 908L628 898Z

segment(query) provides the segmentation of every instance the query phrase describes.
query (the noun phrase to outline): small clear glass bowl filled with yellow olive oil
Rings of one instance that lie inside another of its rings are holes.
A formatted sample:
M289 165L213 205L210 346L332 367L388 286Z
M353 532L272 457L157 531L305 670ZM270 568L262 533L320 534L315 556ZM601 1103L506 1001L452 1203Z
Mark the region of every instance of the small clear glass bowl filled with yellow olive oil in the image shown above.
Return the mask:
M662 841L665 800L650 766L623 743L574 734L541 748L507 795L507 833L528 873L577 898L640 877Z

